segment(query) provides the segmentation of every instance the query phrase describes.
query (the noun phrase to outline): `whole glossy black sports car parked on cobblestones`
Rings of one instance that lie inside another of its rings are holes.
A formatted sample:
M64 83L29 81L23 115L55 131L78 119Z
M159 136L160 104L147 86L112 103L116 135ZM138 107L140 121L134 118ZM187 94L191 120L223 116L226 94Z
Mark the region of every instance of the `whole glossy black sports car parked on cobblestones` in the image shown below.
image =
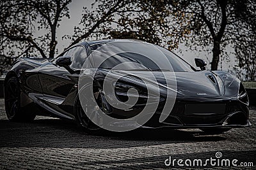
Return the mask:
M110 48L118 50L105 59L102 53L97 53L104 46L108 46L101 50L104 54ZM154 60L171 67L159 67ZM122 65L125 62L129 63ZM223 71L206 71L202 59L195 62L200 70L161 46L129 39L86 41L54 59L20 58L4 80L6 115L11 121L31 121L36 115L67 118L90 130L104 128L102 123L97 123L104 122L104 116L97 116L99 111L118 120L108 122L109 127L198 128L218 133L250 126L248 96L241 81ZM121 66L116 67L118 64ZM165 73L175 76L173 87L167 86L168 79L173 77L166 77ZM114 94L104 91L107 76L117 80L113 84ZM79 80L81 77L85 79ZM156 82L152 83L153 77ZM87 94L79 96L87 84L92 87L94 99ZM154 113L138 124L140 121L132 118L149 106L148 95L155 87L159 97L152 108ZM111 97L122 103L129 101L131 89L136 90L133 94L137 97L131 108L122 109L109 103ZM172 103L167 100L168 89L175 92ZM92 100L97 105L89 110L88 103ZM172 109L161 118L164 106Z

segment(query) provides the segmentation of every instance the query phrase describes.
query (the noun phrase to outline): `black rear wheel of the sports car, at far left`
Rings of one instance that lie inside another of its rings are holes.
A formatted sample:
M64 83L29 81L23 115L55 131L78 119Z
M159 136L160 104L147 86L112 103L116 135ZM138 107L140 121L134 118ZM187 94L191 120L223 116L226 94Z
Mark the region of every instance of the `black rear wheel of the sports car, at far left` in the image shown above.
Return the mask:
M20 107L20 85L15 76L10 77L4 87L4 105L6 116L12 122L31 122L36 117Z

